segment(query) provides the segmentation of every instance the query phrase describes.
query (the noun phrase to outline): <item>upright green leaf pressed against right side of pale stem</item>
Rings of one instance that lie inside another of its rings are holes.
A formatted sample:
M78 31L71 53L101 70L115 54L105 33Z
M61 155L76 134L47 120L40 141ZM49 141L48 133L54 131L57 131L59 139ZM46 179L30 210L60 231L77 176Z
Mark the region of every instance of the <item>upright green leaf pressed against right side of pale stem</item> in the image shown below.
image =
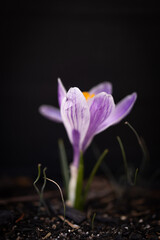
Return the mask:
M83 154L81 153L79 167L78 167L76 194L75 194L75 202L74 202L74 207L79 210L83 209L83 199L82 199L83 178L84 178L84 161L83 161Z

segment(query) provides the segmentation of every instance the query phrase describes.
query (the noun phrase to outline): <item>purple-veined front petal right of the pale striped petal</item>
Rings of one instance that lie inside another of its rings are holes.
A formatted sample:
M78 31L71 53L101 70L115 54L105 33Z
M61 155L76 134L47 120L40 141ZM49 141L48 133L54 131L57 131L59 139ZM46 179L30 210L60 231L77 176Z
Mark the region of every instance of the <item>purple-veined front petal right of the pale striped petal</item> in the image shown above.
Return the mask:
M112 95L105 92L99 93L88 100L88 105L90 110L90 125L83 142L83 150L88 147L99 126L103 124L115 108Z

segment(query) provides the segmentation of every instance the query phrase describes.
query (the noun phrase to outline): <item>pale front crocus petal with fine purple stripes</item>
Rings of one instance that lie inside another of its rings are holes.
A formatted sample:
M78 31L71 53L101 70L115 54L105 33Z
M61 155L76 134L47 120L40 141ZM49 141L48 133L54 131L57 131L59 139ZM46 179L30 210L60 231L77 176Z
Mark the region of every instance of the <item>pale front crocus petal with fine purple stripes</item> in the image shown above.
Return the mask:
M90 112L83 93L76 87L70 88L61 104L61 116L69 139L74 145L72 131L80 133L80 148L88 130Z

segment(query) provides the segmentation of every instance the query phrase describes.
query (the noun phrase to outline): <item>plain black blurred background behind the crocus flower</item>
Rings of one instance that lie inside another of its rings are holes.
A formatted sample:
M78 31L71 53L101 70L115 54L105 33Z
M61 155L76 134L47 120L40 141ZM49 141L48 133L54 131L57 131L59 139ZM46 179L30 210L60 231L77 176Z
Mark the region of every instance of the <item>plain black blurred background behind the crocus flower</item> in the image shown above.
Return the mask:
M159 17L155 2L146 1L6 1L1 38L1 176L32 176L37 163L48 177L61 177L58 139L68 161L72 147L63 125L38 113L42 104L58 107L57 78L68 90L87 91L110 81L118 102L136 91L137 102L120 124L94 139L114 174L123 171L120 136L128 161L141 162L141 150L130 122L150 153L150 172L159 166ZM85 153L86 169L95 163L93 148Z

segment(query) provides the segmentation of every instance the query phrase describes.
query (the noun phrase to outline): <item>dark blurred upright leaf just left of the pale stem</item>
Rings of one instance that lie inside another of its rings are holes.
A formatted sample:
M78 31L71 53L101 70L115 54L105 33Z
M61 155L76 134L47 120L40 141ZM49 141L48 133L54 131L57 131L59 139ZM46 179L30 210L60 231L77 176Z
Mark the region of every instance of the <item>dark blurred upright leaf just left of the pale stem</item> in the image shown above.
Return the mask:
M68 184L69 184L69 167L68 167L66 151L65 151L65 147L64 147L64 143L63 143L62 139L58 140L58 146L59 146L59 155L60 155L60 162L61 162L63 184L64 184L64 188L66 191L66 197L67 197L68 196Z

